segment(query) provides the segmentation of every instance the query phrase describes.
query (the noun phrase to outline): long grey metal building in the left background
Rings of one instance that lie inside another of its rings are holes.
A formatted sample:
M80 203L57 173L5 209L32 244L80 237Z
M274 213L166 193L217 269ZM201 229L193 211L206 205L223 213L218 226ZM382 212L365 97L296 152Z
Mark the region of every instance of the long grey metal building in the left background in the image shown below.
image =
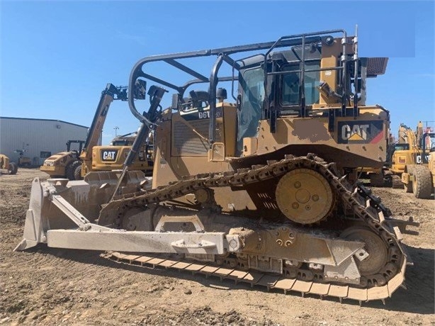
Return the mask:
M0 152L11 162L18 162L22 152L38 166L51 154L66 150L68 140L86 140L87 132L84 125L61 120L0 117Z

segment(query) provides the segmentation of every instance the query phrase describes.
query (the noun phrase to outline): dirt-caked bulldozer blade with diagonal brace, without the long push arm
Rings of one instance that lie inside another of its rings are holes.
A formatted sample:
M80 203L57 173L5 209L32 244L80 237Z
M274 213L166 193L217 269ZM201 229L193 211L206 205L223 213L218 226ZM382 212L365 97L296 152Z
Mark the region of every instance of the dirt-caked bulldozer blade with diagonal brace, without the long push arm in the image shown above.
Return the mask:
M47 243L47 232L56 229L83 230L96 222L101 207L108 203L118 172L91 172L84 180L47 179L32 182L29 208L21 243L14 250L25 250ZM149 188L149 178L140 171L128 172L120 191L132 193ZM86 217L85 217L86 216Z

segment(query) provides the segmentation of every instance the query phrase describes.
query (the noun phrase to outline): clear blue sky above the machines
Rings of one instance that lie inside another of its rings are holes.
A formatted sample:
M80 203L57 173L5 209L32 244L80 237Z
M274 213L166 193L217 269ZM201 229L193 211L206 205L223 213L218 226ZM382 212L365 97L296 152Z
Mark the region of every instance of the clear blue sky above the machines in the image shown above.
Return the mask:
M0 116L89 126L106 84L127 85L142 57L318 30L353 35L358 24L359 55L390 57L386 74L368 80L367 103L390 110L393 135L400 123L435 120L434 1L0 0L0 15ZM138 126L115 102L103 143L115 127Z

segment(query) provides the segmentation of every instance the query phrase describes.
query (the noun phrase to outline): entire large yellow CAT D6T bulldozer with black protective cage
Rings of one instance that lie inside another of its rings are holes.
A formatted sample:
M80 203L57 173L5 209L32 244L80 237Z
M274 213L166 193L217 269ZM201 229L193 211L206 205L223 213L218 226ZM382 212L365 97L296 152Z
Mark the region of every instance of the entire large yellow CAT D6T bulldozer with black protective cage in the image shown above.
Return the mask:
M366 104L387 58L357 50L356 36L327 30L143 58L128 87L142 126L123 170L35 179L16 249L42 242L284 293L390 297L411 264L402 233L418 223L392 218L356 181L358 167L383 166L390 132L389 111ZM148 108L136 107L140 91ZM128 167L150 132L147 184Z

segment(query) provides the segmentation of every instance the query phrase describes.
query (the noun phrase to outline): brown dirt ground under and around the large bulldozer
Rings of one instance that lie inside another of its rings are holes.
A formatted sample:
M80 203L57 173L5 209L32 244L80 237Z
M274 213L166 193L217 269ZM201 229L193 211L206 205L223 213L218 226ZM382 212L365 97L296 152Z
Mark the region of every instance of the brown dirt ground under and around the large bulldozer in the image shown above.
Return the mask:
M396 218L413 216L405 235L414 266L407 290L383 305L267 292L201 275L125 266L99 252L45 246L13 252L38 169L0 176L0 324L3 325L435 325L435 201L401 189L374 189Z

